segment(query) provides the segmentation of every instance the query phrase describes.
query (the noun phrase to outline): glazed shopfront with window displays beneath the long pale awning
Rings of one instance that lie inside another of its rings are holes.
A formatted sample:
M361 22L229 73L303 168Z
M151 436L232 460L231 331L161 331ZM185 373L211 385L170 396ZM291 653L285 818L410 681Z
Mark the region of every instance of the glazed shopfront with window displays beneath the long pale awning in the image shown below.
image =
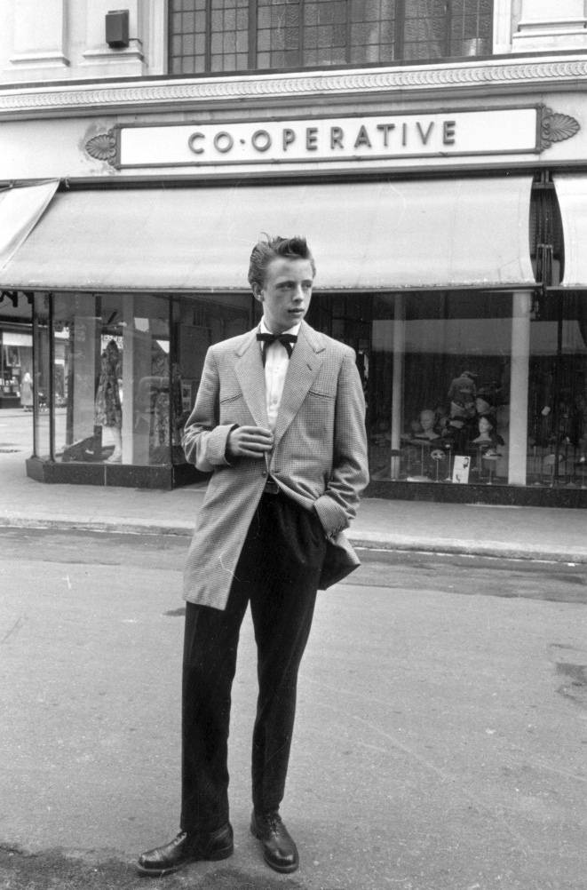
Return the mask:
M318 292L308 320L357 354L374 483L570 489L587 488L586 306L578 292ZM205 353L255 309L244 293L36 294L32 374L18 356L36 458L190 481L181 431Z

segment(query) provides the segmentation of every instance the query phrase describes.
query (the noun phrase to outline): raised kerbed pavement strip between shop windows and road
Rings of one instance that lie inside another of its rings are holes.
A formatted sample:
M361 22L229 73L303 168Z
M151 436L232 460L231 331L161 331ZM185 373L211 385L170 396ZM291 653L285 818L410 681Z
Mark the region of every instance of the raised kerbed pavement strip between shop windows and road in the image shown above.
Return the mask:
M205 484L166 490L28 479L32 417L0 412L0 525L189 536ZM587 563L587 510L363 498L355 546Z

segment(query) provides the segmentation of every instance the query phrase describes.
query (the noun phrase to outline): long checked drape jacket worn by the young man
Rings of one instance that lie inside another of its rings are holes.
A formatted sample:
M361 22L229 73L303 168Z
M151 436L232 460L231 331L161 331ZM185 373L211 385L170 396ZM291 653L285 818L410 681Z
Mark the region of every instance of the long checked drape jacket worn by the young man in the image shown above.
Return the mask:
M183 433L188 461L212 473L184 572L184 597L224 609L246 532L268 474L285 495L316 510L328 546L319 587L359 564L344 530L368 481L365 400L349 346L302 321L285 377L274 448L266 460L229 463L235 425L269 428L257 329L210 347Z

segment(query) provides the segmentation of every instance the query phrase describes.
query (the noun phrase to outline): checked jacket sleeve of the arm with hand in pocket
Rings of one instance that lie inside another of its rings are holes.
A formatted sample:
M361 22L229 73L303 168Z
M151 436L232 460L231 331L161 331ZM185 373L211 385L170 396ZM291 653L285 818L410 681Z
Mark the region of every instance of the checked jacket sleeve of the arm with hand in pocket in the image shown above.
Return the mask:
M336 391L332 471L326 490L314 502L329 538L349 526L368 481L365 397L354 352L349 350L342 360Z

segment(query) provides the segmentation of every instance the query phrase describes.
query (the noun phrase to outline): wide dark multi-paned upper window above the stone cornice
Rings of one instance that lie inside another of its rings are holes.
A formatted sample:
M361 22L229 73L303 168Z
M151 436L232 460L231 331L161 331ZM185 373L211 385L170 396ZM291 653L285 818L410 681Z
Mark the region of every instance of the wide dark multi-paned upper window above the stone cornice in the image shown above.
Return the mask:
M485 55L492 29L493 0L170 0L169 71Z

